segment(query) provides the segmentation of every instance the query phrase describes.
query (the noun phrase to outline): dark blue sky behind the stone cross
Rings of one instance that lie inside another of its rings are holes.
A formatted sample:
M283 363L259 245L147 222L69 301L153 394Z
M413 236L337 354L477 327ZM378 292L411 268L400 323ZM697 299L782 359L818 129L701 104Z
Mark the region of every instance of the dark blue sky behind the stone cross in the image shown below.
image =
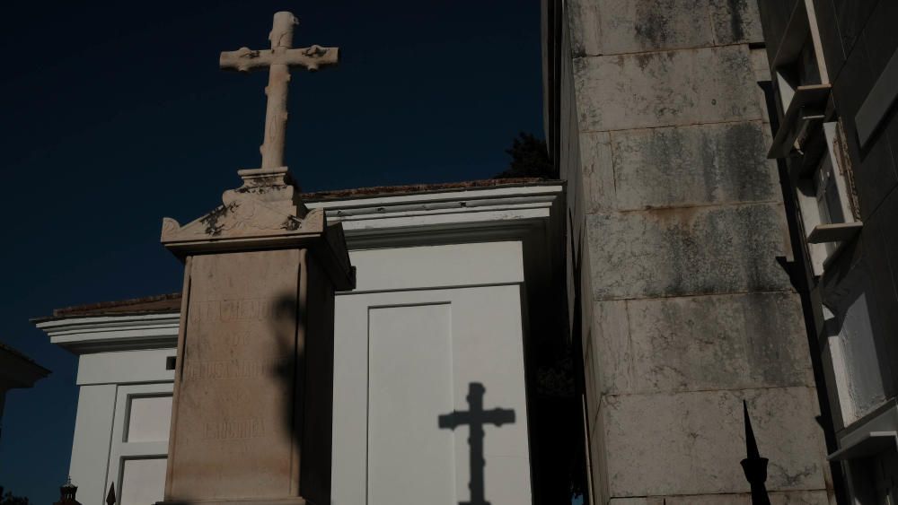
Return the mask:
M175 292L163 216L189 222L257 168L267 74L218 53L339 46L295 74L286 160L305 190L489 178L518 131L542 135L538 0L16 2L0 16L4 266L0 342L53 374L7 396L0 485L46 504L66 478L76 359L28 322Z

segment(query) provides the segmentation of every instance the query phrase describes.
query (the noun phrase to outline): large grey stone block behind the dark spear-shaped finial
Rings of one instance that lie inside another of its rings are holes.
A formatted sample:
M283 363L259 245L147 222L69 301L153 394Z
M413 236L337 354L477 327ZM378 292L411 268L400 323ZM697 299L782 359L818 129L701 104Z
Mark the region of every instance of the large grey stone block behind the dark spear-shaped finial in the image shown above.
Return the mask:
M824 489L814 389L776 387L605 396L600 416L610 495L749 492L738 463L745 454L743 399L761 454L770 458L768 489Z

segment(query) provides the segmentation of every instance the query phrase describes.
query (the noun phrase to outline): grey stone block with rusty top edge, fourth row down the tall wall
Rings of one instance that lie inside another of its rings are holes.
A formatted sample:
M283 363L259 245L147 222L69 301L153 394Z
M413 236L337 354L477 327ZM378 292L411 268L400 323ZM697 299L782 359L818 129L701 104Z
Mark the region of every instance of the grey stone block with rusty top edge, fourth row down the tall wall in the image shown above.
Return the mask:
M775 204L586 217L595 300L791 289Z

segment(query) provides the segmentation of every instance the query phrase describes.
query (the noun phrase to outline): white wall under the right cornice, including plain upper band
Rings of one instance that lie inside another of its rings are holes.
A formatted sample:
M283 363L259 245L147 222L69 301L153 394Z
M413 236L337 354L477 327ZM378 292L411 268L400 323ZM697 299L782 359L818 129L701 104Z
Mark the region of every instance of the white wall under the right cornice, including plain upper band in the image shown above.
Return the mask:
M470 427L438 423L469 411L471 385L485 388L484 409L514 412L485 426L474 492L530 502L521 243L351 256L358 290L338 297L335 327L333 503L471 501Z

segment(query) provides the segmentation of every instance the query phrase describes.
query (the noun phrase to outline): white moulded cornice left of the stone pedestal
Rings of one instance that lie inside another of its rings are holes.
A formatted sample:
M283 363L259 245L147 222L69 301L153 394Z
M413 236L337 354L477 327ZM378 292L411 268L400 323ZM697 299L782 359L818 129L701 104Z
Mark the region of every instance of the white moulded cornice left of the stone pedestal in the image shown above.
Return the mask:
M50 342L75 354L162 349L178 344L180 312L41 319Z

